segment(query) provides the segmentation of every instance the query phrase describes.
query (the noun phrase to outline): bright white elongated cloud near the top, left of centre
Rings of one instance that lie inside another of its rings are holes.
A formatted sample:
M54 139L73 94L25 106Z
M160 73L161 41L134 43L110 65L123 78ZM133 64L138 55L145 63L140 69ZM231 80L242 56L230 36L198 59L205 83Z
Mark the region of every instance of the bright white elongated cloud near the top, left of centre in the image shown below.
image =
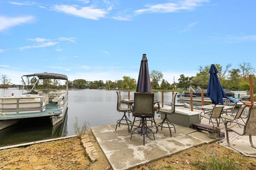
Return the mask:
M54 5L53 9L58 12L92 20L99 20L99 18L103 18L108 13L104 9L94 8L93 6L80 7L77 5Z

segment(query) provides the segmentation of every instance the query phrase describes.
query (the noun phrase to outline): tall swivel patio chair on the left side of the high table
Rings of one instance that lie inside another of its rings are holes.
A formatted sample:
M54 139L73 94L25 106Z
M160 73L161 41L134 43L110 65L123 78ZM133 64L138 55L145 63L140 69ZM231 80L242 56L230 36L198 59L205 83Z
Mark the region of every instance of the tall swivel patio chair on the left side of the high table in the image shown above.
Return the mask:
M117 105L116 105L116 109L118 112L123 112L123 117L119 120L116 121L116 129L117 129L117 126L120 127L121 124L124 124L124 125L127 125L128 126L128 132L130 133L130 125L132 124L132 122L129 120L129 118L126 116L126 113L130 113L131 112L131 109L129 107L127 108L124 108L122 107L122 104L125 104L125 103L122 103L121 102L121 92L120 91L117 91L116 92L117 94Z

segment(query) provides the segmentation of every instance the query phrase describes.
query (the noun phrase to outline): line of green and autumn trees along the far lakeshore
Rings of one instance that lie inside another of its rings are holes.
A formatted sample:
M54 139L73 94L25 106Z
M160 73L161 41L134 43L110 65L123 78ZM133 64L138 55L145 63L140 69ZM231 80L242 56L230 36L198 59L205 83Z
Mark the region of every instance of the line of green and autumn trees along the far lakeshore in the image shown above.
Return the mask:
M188 84L197 84L202 89L206 89L209 81L209 70L211 65L199 66L198 72L193 77L186 77L185 74L181 74L178 82L169 83L167 80L163 79L163 73L161 71L153 70L150 72L151 86L154 89L184 89L187 90ZM249 90L249 75L252 74L254 77L254 84L256 84L255 69L250 63L240 63L238 68L230 69L231 64L226 66L221 66L220 64L215 64L219 73L218 78L221 82L223 88L229 90ZM28 84L35 84L37 88L66 88L66 85L60 85L58 80L48 80L44 79L42 81L37 81L36 78L28 80ZM11 86L11 79L7 78L6 75L1 77L0 88L8 88ZM13 85L12 85L13 86ZM30 85L32 86L32 85ZM122 80L116 81L86 81L84 79L76 79L74 81L68 82L68 87L74 89L135 89L137 82L134 78L124 76ZM254 86L256 87L256 86ZM256 88L254 89L256 90Z

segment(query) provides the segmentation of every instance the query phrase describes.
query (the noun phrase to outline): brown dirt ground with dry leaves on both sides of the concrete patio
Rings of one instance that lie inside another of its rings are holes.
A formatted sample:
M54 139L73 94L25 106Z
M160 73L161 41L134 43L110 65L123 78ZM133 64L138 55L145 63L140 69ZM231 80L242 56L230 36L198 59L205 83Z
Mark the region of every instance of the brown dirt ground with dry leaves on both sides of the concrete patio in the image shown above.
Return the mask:
M111 169L91 131L86 132L100 158L91 163L78 137L38 143L35 145L0 150L2 169ZM242 169L256 169L256 159L245 157L232 150L212 143L190 148L179 154L159 159L133 169L197 169L194 163L215 154L233 158Z

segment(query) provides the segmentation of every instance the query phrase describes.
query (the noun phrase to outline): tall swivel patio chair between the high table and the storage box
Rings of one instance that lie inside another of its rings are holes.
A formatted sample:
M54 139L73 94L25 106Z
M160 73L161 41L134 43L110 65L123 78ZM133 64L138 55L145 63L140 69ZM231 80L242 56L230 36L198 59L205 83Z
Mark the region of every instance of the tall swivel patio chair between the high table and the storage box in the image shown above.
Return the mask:
M169 118L167 117L167 115L170 114L174 114L175 113L175 99L177 96L177 92L175 92L172 96L172 107L170 108L159 108L158 109L158 114L164 114L164 119L162 122L158 123L157 128L161 127L161 130L163 130L163 128L168 128L170 131L170 137L172 137L172 131L171 129L174 128L174 132L176 133L176 129L175 129L175 125L169 120ZM167 126L166 126L167 124Z

